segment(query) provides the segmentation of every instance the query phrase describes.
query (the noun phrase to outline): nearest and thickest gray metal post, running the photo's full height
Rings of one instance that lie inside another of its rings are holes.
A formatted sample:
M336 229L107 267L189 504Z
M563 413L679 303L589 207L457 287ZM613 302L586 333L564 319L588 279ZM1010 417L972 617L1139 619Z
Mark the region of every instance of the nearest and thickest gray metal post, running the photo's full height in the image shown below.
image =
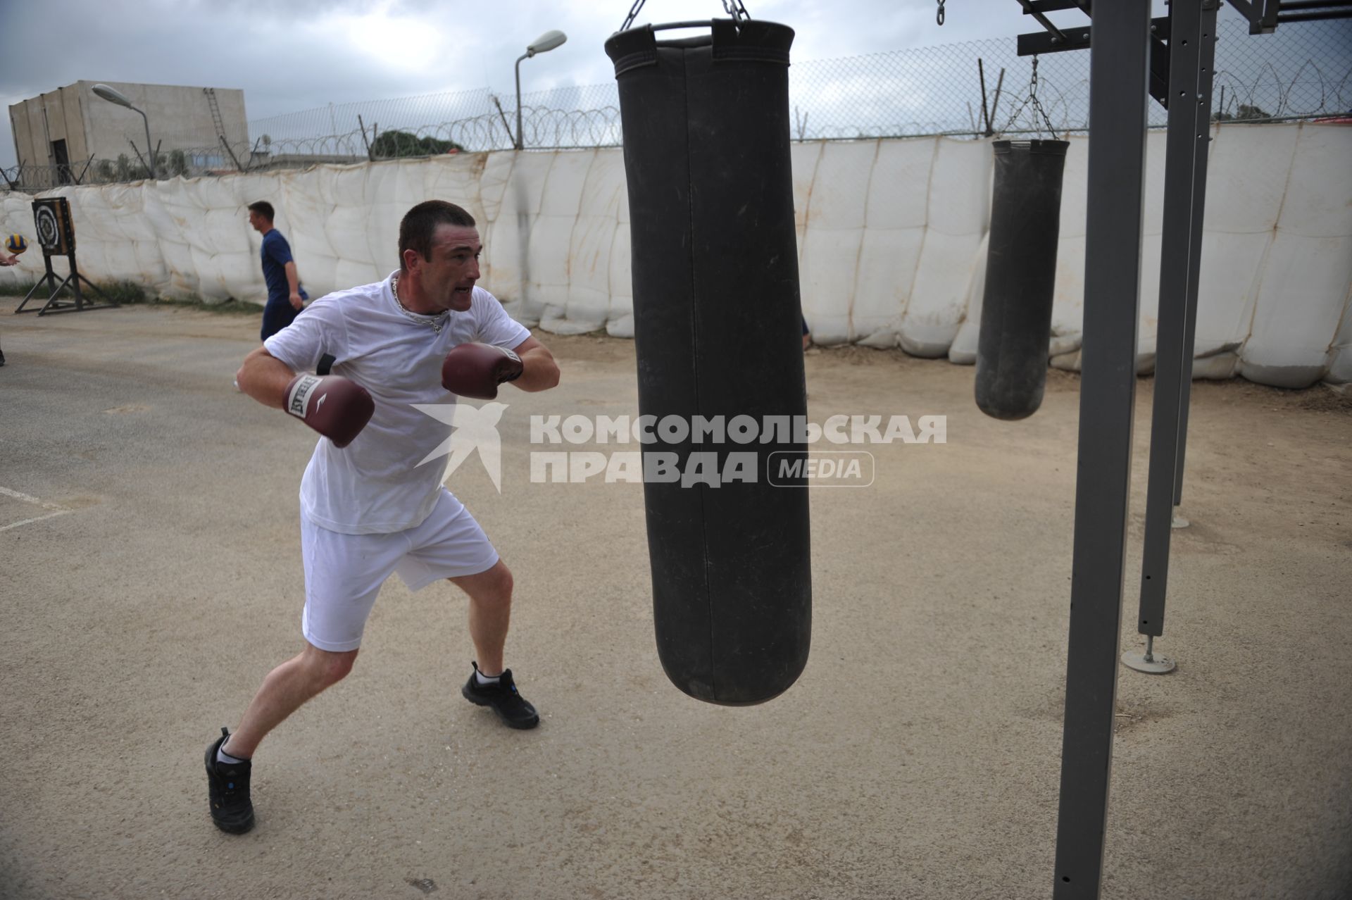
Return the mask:
M1103 873L1132 472L1151 0L1094 4L1075 558L1053 897Z

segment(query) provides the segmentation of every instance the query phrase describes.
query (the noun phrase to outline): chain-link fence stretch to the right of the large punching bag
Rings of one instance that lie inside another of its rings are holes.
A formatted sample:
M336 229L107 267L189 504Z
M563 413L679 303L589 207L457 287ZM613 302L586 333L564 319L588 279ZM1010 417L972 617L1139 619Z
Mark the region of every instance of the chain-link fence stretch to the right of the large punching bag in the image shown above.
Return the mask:
M1234 19L1218 23L1217 34L1214 119L1352 115L1352 22L1293 23L1251 35ZM1000 38L798 64L790 77L794 138L986 134L983 74L990 131L1088 130L1088 51L1019 57L1017 41ZM1152 127L1167 118L1151 104Z

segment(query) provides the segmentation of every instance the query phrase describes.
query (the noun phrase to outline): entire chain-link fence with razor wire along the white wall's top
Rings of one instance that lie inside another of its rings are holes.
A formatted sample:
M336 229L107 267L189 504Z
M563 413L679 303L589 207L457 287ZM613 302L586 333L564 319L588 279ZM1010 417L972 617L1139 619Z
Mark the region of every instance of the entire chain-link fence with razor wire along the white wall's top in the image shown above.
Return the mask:
M1029 26L1036 30L1032 20ZM1217 31L1214 119L1352 115L1352 22L1291 23L1274 34L1249 35L1245 23L1228 18ZM790 69L792 138L1086 131L1088 77L1087 50L1019 57L1013 36L798 62ZM521 107L527 149L621 142L614 82L527 93ZM1161 127L1165 119L1165 111L1151 104L1149 124ZM488 89L330 104L256 119L247 141L226 142L210 130L165 134L161 146L174 149L158 154L155 173L191 177L506 150L515 134L515 96ZM9 188L24 191L145 176L145 161L126 155L4 172Z

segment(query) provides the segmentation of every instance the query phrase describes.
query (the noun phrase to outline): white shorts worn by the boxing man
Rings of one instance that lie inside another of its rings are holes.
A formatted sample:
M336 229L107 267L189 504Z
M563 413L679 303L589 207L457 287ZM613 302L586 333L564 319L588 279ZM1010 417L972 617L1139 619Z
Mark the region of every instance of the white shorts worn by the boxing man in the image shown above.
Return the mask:
M416 528L391 534L339 534L300 515L306 561L306 608L300 632L320 650L361 646L380 585L397 572L410 591L441 578L479 574L498 564L498 551L469 509L441 489L431 515Z

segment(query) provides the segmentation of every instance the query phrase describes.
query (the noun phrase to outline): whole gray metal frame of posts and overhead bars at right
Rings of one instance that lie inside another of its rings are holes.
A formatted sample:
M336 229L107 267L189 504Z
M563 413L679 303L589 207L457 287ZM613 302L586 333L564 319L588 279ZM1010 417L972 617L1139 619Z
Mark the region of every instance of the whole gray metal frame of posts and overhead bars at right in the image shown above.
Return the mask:
M1091 50L1090 173L1079 478L1067 653L1057 900L1098 897L1113 758L1118 628L1132 462L1140 307L1145 108L1142 88L1168 108L1160 315L1138 630L1164 631L1169 535L1183 497L1188 397L1206 200L1218 0L1172 0L1149 20L1149 0L1017 0L1042 34L1019 35L1019 55ZM1251 34L1286 22L1352 18L1352 0L1229 0ZM1057 28L1046 12L1079 8L1101 26ZM1098 15L1092 15L1098 14ZM1148 643L1145 659L1151 661ZM1160 670L1160 669L1155 669Z

